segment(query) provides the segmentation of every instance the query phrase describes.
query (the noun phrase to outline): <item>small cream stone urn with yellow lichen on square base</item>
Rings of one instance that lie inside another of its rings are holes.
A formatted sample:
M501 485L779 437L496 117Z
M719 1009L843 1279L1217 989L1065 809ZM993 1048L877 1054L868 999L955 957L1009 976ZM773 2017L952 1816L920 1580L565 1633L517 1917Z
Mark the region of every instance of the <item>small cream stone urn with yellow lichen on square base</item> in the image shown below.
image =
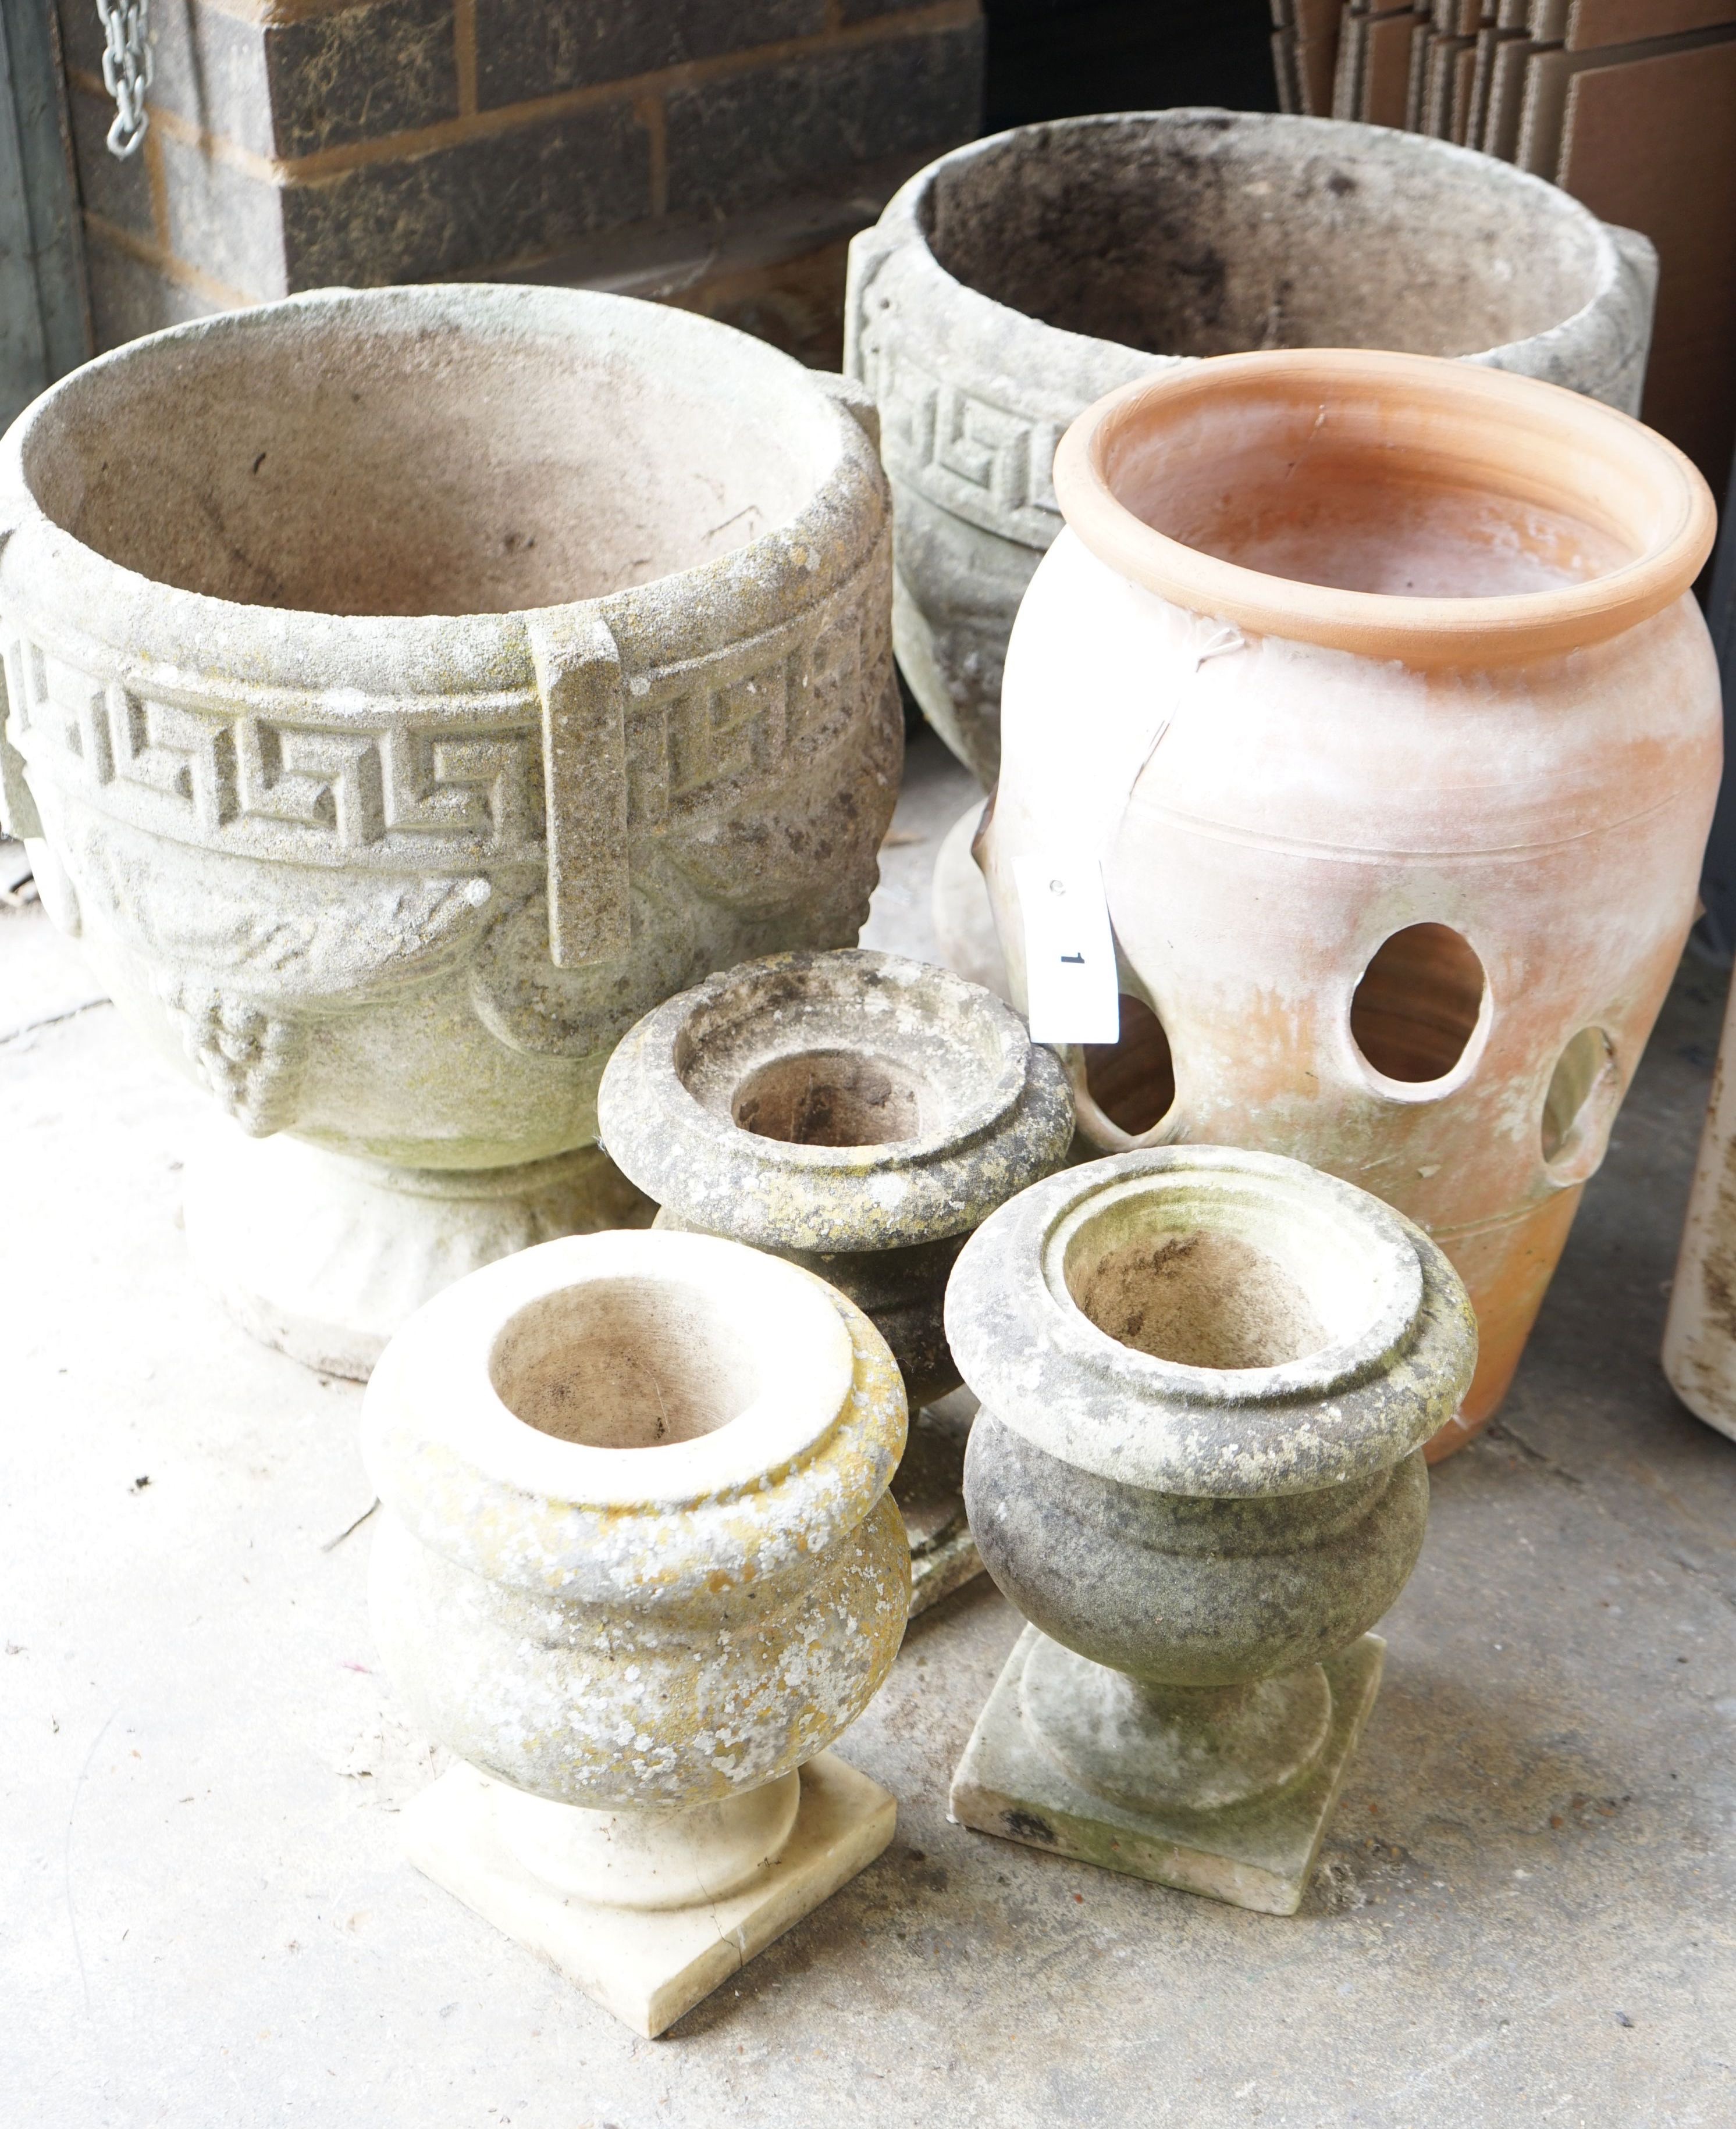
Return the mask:
M490 1265L369 1382L375 1637L464 1761L409 1856L639 2033L892 1837L826 1746L903 1635L903 1437L861 1309L709 1235Z

